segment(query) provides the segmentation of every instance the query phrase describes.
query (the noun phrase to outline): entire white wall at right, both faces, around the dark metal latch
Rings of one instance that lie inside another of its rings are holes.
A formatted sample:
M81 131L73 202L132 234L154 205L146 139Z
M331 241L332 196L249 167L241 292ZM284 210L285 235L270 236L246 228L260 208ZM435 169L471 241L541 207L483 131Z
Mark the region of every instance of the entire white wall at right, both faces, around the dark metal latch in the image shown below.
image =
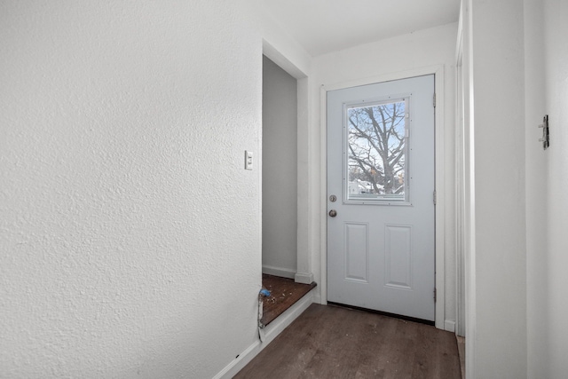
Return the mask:
M468 375L564 378L568 4L474 0L463 5L473 25L464 32L473 40L467 52L474 62L469 90L477 219L470 267L476 275L472 303L477 311L469 313L468 329L474 332L468 348L475 353L466 365ZM537 127L544 114L551 127L546 151ZM505 173L497 183L487 174L494 162ZM503 196L503 190L509 195Z

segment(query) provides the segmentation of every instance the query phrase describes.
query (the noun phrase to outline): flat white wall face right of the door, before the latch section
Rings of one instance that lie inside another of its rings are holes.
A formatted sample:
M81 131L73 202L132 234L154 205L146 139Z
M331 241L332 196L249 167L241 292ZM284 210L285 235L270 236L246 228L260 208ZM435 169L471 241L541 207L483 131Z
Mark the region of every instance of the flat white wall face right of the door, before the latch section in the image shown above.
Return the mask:
M469 0L473 212L468 377L526 377L525 50L517 0ZM471 325L473 324L473 325ZM472 333L471 333L472 332Z

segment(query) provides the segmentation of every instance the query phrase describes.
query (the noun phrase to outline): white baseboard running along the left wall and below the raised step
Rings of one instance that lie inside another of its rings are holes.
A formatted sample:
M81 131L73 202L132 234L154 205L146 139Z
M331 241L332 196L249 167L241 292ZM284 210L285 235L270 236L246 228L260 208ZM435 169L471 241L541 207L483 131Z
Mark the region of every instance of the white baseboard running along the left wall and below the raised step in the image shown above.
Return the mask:
M286 312L280 314L276 320L273 320L266 328L260 329L261 333L264 335L264 342L256 341L252 343L245 351L242 351L239 358L233 359L223 370L221 370L213 379L230 379L234 375L237 375L239 371L250 362L256 355L262 351L268 343L271 343L274 338L276 338L282 330L288 327L294 320L297 319L299 315L304 313L306 309L313 302L313 289L306 296L302 297L292 305Z

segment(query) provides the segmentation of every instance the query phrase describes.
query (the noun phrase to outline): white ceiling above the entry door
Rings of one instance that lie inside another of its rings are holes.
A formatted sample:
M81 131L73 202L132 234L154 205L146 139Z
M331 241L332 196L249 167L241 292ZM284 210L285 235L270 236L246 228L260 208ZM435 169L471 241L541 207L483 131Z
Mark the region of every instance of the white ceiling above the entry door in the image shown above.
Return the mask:
M458 20L460 0L264 0L312 57Z

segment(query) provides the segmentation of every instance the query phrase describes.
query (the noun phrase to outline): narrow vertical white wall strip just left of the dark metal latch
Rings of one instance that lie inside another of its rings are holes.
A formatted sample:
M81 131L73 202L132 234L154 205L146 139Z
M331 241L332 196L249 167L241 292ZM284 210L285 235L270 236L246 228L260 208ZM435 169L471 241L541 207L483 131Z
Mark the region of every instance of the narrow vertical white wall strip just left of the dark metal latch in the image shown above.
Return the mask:
M527 376L550 378L548 350L548 156L537 125L548 112L544 72L544 6L525 0L525 196Z

